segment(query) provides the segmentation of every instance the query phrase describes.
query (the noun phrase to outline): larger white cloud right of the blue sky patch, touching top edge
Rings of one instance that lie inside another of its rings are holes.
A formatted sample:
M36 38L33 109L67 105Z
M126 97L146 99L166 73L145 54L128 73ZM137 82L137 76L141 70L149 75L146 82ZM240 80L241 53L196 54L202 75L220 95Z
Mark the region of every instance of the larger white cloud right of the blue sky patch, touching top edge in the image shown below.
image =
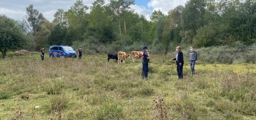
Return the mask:
M154 10L161 10L164 14L168 11L176 8L179 5L185 5L186 0L151 0L148 2L149 8L154 8Z

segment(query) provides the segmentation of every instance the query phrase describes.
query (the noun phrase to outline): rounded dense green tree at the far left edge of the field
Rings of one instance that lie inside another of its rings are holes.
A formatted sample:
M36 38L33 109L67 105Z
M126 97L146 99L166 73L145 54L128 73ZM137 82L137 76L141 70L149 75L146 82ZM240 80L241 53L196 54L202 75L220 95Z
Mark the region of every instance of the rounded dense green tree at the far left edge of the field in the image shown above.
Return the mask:
M7 49L21 48L25 42L25 34L18 22L0 15L0 51L6 56Z

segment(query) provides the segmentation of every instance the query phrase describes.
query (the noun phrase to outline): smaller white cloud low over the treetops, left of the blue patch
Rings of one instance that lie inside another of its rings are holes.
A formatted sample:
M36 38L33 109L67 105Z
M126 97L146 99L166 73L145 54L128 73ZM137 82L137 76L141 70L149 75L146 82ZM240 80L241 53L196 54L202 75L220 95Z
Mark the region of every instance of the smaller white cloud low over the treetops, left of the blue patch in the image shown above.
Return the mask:
M150 15L152 14L152 11L149 9L146 9L144 6L138 6L138 5L132 5L131 8L134 9L134 12L137 12L138 14L144 14L147 20L150 20Z

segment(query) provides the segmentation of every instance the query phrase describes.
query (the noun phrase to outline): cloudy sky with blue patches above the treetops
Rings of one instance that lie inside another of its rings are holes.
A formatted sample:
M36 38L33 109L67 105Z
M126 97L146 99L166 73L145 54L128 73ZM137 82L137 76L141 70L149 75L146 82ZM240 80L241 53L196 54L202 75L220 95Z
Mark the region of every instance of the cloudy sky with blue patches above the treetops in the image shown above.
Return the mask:
M95 0L83 0L83 4L92 6ZM135 5L131 7L138 14L144 14L147 20L154 10L161 10L167 14L169 10L174 9L178 5L185 5L187 0L135 0ZM22 19L26 15L26 7L30 4L39 12L42 12L44 17L52 21L54 14L60 9L68 10L76 0L0 0L0 14L5 14L15 20ZM109 3L109 0L105 0Z

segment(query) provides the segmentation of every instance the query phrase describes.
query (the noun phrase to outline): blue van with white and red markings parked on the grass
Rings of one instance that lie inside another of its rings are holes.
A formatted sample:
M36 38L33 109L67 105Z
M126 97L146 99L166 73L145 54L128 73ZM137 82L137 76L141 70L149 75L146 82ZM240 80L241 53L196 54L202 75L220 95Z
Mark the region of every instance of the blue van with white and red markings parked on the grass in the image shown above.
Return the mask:
M68 45L61 45L61 46L50 46L49 48L49 56L53 57L74 57L76 58L76 52L73 48Z

